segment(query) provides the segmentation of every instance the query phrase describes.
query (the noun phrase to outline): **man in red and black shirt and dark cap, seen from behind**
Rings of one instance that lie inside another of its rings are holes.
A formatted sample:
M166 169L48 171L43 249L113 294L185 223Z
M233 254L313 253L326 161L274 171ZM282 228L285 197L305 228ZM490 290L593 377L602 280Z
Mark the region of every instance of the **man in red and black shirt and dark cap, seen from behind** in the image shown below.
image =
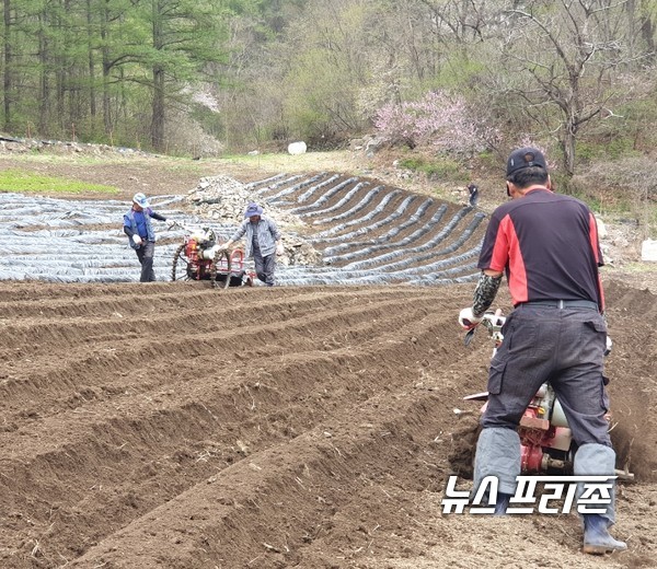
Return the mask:
M613 476L615 469L604 417L607 325L596 220L581 201L552 191L545 158L534 148L510 154L506 179L511 200L491 217L473 306L459 316L466 329L476 326L506 274L515 310L491 362L473 490L486 476L496 476L498 514L506 511L520 474L520 418L545 382L554 388L578 446L574 474ZM604 513L583 518L585 553L626 548L609 534L613 496Z

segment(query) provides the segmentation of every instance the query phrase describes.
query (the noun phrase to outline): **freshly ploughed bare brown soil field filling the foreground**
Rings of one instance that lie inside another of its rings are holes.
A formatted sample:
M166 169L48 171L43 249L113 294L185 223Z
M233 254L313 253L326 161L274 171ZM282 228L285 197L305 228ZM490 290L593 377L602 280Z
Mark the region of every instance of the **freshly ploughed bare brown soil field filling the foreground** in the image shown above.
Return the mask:
M638 481L593 559L574 514L440 514L491 355L472 284L0 282L0 566L653 567L655 297L607 284Z

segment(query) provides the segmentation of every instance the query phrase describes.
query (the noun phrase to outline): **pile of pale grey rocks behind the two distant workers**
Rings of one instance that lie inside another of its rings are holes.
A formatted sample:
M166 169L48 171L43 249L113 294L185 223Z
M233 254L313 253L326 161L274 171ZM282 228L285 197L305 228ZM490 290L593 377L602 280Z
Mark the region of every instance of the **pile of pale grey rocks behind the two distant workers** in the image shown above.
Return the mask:
M237 179L218 175L204 177L185 197L195 214L219 223L239 224L244 219L247 204L260 204L265 214L276 221L283 233L285 255L280 259L285 265L316 265L322 263L322 254L302 236L296 233L306 223L292 213L269 206L260 196L246 189Z

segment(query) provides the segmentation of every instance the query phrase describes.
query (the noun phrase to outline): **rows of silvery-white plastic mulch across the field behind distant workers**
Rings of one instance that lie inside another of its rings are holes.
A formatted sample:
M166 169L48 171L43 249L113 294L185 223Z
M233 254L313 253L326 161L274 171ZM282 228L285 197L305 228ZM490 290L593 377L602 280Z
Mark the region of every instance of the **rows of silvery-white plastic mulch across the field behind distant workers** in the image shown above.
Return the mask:
M265 207L295 212L307 224L304 240L323 251L318 266L286 266L281 259L276 277L283 286L435 286L479 276L481 237L473 235L485 216L472 208L452 205L448 213L449 205L431 197L331 173L279 174L246 186ZM153 196L151 207L181 224L210 227L221 241L235 230L234 224L184 212L183 200L183 196ZM129 207L117 200L0 194L0 280L137 281L139 263L123 232ZM170 280L184 230L168 230L157 220L153 227L159 237L155 276ZM293 242L295 234L284 233ZM162 237L170 239L162 242Z

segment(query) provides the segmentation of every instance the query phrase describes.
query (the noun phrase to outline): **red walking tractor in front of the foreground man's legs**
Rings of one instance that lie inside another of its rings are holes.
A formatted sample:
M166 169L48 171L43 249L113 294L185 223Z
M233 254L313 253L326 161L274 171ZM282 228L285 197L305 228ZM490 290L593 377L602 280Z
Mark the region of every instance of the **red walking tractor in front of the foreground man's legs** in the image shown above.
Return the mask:
M487 312L481 325L487 330L495 347L502 344L502 327L505 323L502 311L495 313ZM475 328L468 332L465 345L470 344ZM465 400L486 400L488 393L476 393L464 397ZM486 404L481 409L483 413ZM611 416L607 419L611 423ZM520 469L522 474L573 474L573 457L577 450L573 441L573 434L568 427L568 421L563 407L550 383L544 383L539 388L533 399L528 405L518 428L520 437ZM619 479L631 481L634 475L624 471L616 469Z

